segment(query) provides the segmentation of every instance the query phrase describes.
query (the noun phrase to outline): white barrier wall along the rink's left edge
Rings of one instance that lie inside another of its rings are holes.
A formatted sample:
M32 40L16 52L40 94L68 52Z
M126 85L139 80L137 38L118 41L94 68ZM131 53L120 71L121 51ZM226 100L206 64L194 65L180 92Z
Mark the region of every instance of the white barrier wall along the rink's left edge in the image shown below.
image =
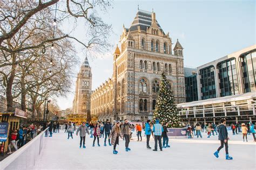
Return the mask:
M1 161L0 169L32 169L43 149L45 133L48 128Z

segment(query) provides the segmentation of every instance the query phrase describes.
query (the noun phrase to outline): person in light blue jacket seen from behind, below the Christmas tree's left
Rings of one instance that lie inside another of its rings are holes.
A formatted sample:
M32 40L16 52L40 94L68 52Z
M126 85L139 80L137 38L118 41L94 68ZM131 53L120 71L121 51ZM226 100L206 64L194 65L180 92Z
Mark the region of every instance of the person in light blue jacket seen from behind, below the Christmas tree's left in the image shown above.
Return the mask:
M163 151L162 141L161 141L163 131L164 131L163 126L159 123L159 120L156 119L156 124L154 124L153 126L153 132L154 132L154 150L153 151L157 151L157 141L159 143L160 151Z

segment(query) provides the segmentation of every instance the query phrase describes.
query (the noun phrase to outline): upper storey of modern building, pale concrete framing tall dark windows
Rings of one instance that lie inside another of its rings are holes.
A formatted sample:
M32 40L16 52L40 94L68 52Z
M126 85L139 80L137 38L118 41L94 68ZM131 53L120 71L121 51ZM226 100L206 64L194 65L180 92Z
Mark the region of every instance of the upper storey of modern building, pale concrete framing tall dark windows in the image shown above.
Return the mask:
M256 45L197 68L199 100L254 92Z

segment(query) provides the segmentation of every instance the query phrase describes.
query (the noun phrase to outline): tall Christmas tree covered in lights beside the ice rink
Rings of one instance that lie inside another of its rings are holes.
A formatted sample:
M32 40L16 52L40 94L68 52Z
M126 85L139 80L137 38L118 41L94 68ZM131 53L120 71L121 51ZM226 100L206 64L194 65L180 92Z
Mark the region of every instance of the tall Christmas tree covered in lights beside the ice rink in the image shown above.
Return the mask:
M169 128L180 128L181 122L177 105L174 103L174 97L166 76L162 73L159 94L157 96L156 109L153 119L159 119L160 123L168 123Z

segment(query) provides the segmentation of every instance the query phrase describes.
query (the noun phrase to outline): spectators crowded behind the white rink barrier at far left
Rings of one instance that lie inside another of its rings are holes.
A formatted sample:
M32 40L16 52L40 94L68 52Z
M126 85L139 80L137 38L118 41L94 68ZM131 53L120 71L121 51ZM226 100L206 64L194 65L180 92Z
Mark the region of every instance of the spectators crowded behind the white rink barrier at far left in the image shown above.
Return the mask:
M21 125L19 129L11 130L9 133L9 141L8 145L9 152L7 154L11 154L17 151L19 148L24 146L30 140L37 136L40 132L42 132L43 126L34 125L33 123L30 125ZM15 151L12 151L12 147L15 148Z

